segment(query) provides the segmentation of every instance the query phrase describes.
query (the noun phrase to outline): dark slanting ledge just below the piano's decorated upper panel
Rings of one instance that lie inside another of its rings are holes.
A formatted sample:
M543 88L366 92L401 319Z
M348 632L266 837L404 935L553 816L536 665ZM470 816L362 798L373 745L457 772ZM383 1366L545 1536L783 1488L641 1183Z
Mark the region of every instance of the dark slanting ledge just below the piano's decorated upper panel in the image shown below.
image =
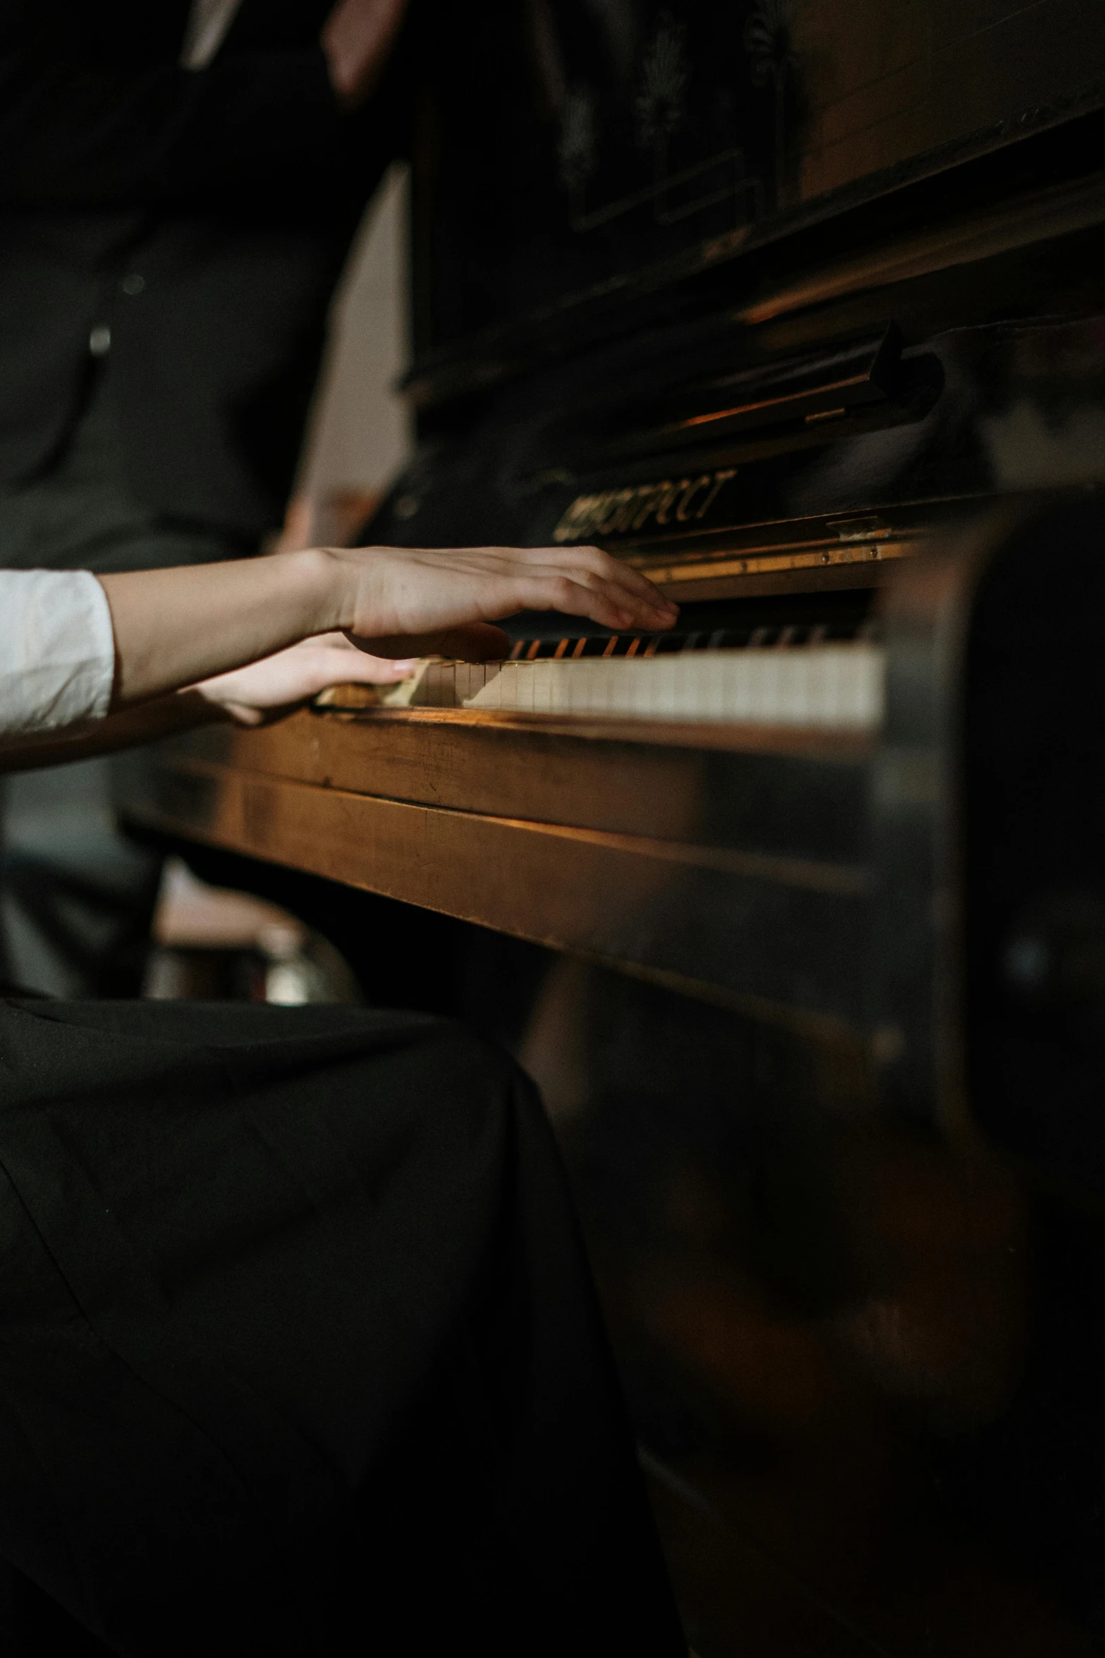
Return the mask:
M1105 139L1098 33L1102 61L1088 68L1102 75L1088 85L422 350L403 390L429 411L704 305L755 325L817 303L827 275L832 292L858 292L1102 222L1105 184L1090 171Z

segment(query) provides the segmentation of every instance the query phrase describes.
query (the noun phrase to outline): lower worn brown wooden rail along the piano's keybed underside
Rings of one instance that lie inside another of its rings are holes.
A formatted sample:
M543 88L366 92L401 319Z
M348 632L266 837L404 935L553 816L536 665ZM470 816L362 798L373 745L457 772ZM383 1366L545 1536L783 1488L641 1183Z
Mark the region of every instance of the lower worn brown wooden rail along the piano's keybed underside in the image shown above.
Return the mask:
M860 1018L861 864L411 804L212 764L181 744L129 812L772 1021L830 1035Z

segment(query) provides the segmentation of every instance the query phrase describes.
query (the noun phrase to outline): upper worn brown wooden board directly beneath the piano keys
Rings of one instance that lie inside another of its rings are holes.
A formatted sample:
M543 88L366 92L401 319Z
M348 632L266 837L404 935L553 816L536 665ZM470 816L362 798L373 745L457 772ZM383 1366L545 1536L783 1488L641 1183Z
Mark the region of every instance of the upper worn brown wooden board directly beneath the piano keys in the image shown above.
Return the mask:
M868 739L825 731L427 708L209 726L162 744L157 769L204 763L492 817L855 862L871 754Z

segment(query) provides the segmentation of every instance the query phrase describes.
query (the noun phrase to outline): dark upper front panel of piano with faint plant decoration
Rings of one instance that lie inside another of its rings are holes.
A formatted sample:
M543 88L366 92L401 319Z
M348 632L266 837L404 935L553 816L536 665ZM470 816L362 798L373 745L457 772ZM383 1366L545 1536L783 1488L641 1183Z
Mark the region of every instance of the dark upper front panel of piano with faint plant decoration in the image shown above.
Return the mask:
M873 0L861 23L833 0L487 0L479 30L422 0L413 35L424 410L615 312L673 320L673 277L726 303L754 249L832 255L865 206L875 237L913 229L903 182L941 176L948 202L953 167L1098 109L1105 78L1095 0Z

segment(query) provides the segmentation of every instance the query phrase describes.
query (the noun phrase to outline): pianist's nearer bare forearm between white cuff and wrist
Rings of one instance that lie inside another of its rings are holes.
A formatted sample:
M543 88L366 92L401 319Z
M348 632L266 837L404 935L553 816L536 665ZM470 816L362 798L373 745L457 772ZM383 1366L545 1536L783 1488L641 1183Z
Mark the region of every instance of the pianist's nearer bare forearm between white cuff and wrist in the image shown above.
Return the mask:
M103 575L113 711L270 657L345 622L348 572L320 549Z

